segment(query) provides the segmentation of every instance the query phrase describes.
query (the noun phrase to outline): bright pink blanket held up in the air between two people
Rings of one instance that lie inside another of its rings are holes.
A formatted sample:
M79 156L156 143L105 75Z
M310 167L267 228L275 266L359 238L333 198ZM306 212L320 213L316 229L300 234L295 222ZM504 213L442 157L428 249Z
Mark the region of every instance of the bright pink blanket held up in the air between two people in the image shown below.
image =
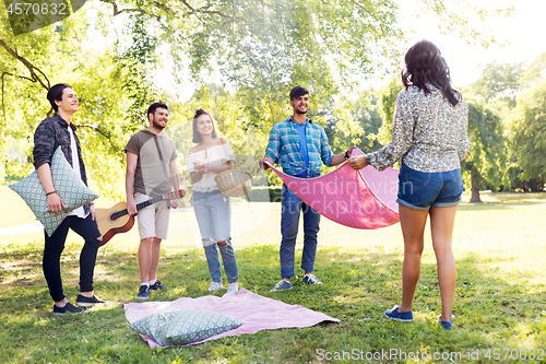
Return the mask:
M355 148L351 156L361 154ZM373 230L399 222L399 169L379 172L368 165L356 171L344 163L335 171L308 179L270 167L304 202L336 223Z

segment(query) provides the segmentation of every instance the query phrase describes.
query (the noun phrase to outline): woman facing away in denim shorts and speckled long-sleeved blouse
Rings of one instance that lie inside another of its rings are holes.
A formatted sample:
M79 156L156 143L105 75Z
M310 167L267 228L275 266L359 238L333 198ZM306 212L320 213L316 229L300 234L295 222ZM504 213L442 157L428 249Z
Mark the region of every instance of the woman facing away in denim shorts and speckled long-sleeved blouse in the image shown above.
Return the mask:
M441 327L452 329L456 267L452 245L456 207L463 180L461 161L467 155L468 107L451 87L449 68L440 50L420 40L407 50L401 72L405 89L396 96L392 141L375 153L351 157L360 169L371 164L382 171L402 158L397 200L404 236L402 304L385 312L399 321L412 321L412 304L419 280L424 234L430 215L432 247L442 301Z

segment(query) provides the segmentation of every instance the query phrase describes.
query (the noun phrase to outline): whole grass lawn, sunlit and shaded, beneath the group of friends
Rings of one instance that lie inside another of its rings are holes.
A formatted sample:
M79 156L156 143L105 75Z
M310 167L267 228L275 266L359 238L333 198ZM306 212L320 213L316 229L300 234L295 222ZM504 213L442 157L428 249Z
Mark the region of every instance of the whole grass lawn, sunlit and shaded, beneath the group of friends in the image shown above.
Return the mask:
M0 227L35 222L32 213L20 213L26 207L9 196L11 191L2 187L1 192L13 204L2 212ZM419 363L546 363L546 193L483 193L483 199L462 203L458 212L453 331L436 324L440 293L429 233L415 321L384 318L383 312L401 298L399 224L357 231L323 219L316 274L324 284L304 286L299 279L292 291L270 293L280 279L280 204L234 204L240 286L341 322L154 350L128 327L123 312L124 303L138 302L135 228L99 250L95 293L108 304L90 315L64 318L51 313L41 272L43 233L0 236L0 363L414 363L416 353ZM296 263L301 242L300 234ZM81 238L71 233L62 256L64 290L72 302L81 246ZM163 247L158 274L169 290L152 294L150 301L209 294L210 275L191 211L171 214Z

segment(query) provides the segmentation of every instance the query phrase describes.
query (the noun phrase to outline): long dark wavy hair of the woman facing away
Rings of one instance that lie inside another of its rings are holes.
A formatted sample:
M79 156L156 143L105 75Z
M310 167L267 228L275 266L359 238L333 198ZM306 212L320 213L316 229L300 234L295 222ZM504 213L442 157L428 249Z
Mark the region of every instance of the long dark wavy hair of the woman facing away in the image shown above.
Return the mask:
M406 64L401 75L406 90L414 85L426 95L430 93L427 86L427 83L430 83L442 91L443 97L451 105L459 104L461 94L451 87L448 63L437 46L429 40L417 42L407 50L404 60Z

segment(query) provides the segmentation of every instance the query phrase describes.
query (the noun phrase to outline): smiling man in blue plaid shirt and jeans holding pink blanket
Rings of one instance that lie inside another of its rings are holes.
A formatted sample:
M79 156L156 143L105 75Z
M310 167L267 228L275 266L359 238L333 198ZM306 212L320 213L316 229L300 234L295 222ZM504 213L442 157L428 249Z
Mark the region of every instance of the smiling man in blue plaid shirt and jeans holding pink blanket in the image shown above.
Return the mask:
M320 176L321 163L334 166L345 161L346 154L333 154L328 144L324 129L307 117L309 92L296 86L290 91L290 106L294 113L286 120L271 128L265 157L262 162L281 164L283 172L300 178ZM266 165L264 164L266 168ZM319 233L320 214L306 204L286 185L282 191L281 233L281 277L282 280L271 290L283 291L293 287L296 237L298 235L299 214L304 212L304 253L301 269L304 283L322 284L312 271L317 251L317 234Z

